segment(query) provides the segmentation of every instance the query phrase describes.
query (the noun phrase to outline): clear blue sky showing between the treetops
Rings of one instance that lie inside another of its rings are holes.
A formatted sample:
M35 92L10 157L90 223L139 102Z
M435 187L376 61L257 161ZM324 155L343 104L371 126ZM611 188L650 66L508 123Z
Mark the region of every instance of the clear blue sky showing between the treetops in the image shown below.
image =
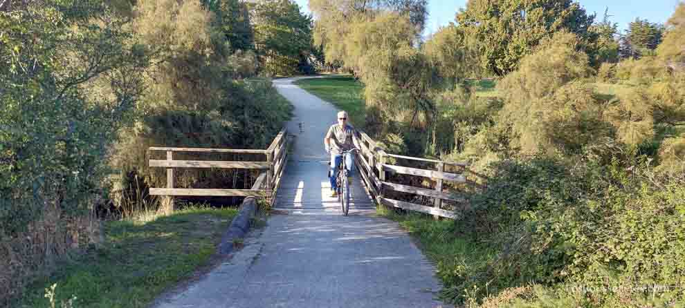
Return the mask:
M308 0L295 0L304 12L309 13ZM466 6L467 0L428 0L428 23L424 35L430 35L440 26L446 26L454 21L459 8ZM636 17L651 22L664 23L675 11L680 0L580 0L581 6L592 14L597 13L601 19L605 8L609 8L611 21L619 23L619 30L625 30L628 23Z

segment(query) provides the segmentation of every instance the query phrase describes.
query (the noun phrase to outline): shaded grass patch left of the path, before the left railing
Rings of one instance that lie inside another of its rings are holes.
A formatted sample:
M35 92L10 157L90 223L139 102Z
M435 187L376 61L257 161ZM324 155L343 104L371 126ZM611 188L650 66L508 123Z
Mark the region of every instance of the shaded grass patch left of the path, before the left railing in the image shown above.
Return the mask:
M147 307L165 289L211 263L235 209L194 208L149 222L104 225L104 243L60 264L57 272L26 289L18 307L57 307L75 296L74 307Z

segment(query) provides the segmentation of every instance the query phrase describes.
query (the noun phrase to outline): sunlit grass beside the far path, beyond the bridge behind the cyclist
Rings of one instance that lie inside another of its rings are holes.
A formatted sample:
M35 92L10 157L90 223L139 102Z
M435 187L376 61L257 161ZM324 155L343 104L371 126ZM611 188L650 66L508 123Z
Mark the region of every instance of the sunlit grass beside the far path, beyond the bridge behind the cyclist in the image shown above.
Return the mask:
M331 102L349 114L350 123L363 128L365 123L364 85L351 76L333 76L315 79L300 79L295 84Z

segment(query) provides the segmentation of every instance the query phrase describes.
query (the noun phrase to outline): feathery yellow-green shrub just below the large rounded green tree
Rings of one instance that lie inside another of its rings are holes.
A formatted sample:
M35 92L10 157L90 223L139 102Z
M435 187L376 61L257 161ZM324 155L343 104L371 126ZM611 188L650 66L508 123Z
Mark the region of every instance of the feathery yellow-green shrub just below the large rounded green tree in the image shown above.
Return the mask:
M578 153L609 135L592 87L578 81L592 71L579 44L573 33L557 32L497 84L504 99L497 125L511 128L509 146L515 151Z

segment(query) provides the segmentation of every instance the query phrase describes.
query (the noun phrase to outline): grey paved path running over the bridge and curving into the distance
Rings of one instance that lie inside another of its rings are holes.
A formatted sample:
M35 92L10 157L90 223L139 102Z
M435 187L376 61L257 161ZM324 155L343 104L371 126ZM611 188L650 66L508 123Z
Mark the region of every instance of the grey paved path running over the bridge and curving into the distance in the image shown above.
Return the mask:
M289 214L271 216L231 260L156 307L446 307L435 300L432 264L398 224L374 215L358 176L349 216L327 197L323 137L337 110L292 80L274 81L295 106L294 153L277 195Z

